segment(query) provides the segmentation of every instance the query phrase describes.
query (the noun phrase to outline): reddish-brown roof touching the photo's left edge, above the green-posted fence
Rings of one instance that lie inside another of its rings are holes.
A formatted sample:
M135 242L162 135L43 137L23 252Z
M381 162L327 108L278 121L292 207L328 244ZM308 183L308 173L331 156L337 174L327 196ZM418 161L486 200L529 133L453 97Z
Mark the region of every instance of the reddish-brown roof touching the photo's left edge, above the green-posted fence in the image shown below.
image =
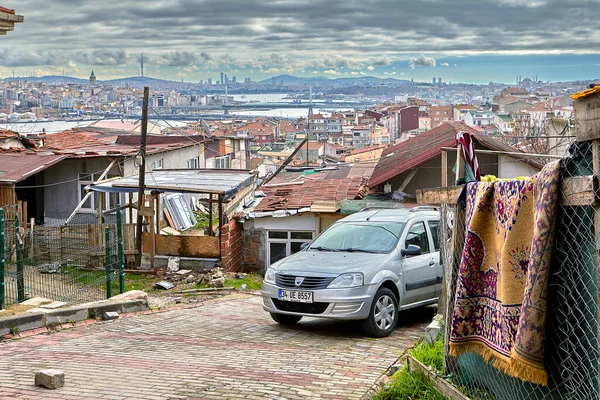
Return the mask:
M64 155L0 153L0 182L17 183L64 160Z

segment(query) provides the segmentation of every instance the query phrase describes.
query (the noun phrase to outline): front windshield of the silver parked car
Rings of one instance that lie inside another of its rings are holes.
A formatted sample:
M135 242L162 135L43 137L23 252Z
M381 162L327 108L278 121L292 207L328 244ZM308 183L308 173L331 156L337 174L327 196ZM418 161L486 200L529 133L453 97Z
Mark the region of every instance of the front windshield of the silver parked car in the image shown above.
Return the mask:
M309 249L389 253L404 227L400 222L338 222L321 234Z

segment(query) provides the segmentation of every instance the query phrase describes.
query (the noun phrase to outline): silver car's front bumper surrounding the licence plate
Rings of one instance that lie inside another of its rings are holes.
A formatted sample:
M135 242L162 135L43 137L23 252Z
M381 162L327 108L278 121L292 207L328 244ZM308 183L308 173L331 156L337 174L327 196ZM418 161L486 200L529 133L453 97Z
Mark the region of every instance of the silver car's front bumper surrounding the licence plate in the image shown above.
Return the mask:
M369 316L377 285L364 285L346 289L298 289L312 292L313 303L279 300L279 289L296 290L293 288L279 288L276 285L263 282L261 293L265 311L305 317L359 320Z

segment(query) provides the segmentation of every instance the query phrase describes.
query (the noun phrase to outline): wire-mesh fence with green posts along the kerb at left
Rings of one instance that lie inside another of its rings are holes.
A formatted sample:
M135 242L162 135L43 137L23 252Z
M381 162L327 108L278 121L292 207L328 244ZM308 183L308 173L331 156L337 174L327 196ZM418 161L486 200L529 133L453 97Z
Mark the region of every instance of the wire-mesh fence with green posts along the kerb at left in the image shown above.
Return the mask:
M112 214L103 220L114 223L35 225L21 221L19 206L2 207L0 309L36 296L77 304L122 292L124 228L133 229Z

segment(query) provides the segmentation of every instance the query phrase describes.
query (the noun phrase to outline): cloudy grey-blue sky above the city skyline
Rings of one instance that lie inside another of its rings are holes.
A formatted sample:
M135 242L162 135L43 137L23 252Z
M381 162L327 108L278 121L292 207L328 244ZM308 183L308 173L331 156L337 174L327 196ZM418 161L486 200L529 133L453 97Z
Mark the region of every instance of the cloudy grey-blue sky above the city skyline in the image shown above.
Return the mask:
M0 0L0 76L593 79L600 0Z

